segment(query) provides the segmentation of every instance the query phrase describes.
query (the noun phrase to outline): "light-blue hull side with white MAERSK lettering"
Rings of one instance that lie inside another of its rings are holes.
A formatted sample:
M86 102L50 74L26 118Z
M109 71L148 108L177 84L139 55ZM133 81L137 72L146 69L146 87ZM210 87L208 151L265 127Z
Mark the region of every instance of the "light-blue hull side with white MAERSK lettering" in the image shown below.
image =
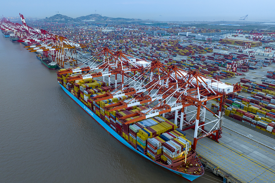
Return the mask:
M79 99L77 99L73 94L71 94L71 92L69 92L64 86L62 86L61 84L60 84L60 86L79 106L81 106L88 114L90 114L90 116L93 117L94 120L97 121L97 123L99 123L102 127L104 127L105 130L107 130L113 137L115 137L117 140L119 140L119 142L123 143L124 145L126 145L127 147L129 147L130 149L132 149L134 152L136 152L139 155L145 157L146 159L148 159L148 160L156 163L154 160L152 160L148 156L146 156L146 155L142 154L141 152L139 152L138 150L134 149L134 147L132 147L128 142L126 142L120 135L118 135L111 127L109 127L95 113L93 113L88 107L86 107L81 101L79 101ZM185 178L188 181L193 181L196 178L198 178L198 177L201 176L201 175L189 175L189 174L181 173L181 172L172 170L170 168L164 167L164 166L162 166L159 163L156 163L156 164L160 165L163 168L166 168L167 170L170 170L170 171L174 172L175 174L178 174L179 176Z

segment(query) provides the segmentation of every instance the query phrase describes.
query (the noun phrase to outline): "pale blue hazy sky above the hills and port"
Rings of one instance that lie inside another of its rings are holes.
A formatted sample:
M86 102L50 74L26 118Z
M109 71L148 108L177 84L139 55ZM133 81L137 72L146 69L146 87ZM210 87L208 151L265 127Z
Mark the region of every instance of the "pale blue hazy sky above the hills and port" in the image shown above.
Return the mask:
M218 21L235 20L248 14L248 21L274 20L275 1L240 0L82 0L82 1L29 1L1 2L0 13L5 17L19 16L45 18L56 14L76 18L97 14L109 17L139 18L164 21ZM270 7L270 9L268 8Z

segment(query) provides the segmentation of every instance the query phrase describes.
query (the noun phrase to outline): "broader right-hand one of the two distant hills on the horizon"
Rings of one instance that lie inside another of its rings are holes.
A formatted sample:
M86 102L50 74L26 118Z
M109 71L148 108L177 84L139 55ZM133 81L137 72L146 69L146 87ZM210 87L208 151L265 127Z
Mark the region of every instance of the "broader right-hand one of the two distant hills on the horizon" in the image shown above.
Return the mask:
M75 18L78 21L134 21L134 20L141 20L141 19L134 19L134 18L112 18L108 16L101 16L99 14L90 14L87 16L80 16Z

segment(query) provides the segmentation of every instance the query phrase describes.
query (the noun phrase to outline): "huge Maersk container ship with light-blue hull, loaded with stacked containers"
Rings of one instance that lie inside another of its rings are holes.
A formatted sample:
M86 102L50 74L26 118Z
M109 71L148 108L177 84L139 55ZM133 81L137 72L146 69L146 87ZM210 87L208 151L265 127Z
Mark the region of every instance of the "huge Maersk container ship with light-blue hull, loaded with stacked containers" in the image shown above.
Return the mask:
M191 149L191 142L176 124L163 116L125 124L120 117L146 109L146 106L140 104L108 112L105 110L106 106L131 96L96 102L93 97L112 90L108 83L94 79L78 80L77 83L67 82L67 77L69 74L57 73L57 81L61 88L119 142L188 181L204 174L204 167L195 150Z

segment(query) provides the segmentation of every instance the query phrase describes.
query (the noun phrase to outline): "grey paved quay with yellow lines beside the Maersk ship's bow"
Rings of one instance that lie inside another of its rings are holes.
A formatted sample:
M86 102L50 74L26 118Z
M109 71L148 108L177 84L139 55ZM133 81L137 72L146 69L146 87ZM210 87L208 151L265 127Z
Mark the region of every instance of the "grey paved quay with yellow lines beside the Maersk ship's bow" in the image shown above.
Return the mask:
M211 102L207 106L210 108ZM192 108L188 107L188 110ZM206 122L214 119L207 111ZM198 140L196 152L241 182L275 182L275 153L271 149L275 148L274 137L226 118L223 122L220 143L202 138ZM205 129L209 131L211 127L206 125ZM194 130L190 129L186 134L192 142Z

